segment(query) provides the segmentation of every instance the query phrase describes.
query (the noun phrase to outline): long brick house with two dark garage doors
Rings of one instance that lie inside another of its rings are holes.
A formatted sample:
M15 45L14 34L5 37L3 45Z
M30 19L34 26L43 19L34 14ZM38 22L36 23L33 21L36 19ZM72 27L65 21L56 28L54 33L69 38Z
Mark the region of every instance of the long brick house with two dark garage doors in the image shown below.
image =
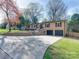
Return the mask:
M67 33L67 22L66 20L59 20L39 24L32 24L30 25L30 28L39 30L45 35L65 36Z

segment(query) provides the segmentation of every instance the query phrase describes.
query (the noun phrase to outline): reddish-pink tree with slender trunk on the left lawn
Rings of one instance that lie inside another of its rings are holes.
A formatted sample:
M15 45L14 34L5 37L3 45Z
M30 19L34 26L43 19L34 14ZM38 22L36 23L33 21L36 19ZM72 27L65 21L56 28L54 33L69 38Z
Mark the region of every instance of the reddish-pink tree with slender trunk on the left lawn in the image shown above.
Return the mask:
M14 0L0 0L0 9L5 13L11 31L10 18L19 15L18 9Z

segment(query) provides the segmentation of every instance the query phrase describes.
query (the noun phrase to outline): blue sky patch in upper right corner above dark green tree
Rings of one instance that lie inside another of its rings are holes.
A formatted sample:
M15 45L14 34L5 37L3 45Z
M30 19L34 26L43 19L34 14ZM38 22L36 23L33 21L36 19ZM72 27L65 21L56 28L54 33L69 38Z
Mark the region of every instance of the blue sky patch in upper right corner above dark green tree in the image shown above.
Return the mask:
M67 14L73 15L74 13L79 13L79 0L64 0L67 8Z

